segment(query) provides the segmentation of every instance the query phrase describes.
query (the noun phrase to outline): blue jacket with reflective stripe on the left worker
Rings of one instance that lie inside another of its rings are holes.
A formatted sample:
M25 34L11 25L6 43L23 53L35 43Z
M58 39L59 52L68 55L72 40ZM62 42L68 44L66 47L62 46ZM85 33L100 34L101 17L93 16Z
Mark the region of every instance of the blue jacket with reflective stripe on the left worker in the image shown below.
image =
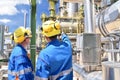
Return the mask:
M8 64L8 80L34 80L33 66L27 51L18 44L12 51Z

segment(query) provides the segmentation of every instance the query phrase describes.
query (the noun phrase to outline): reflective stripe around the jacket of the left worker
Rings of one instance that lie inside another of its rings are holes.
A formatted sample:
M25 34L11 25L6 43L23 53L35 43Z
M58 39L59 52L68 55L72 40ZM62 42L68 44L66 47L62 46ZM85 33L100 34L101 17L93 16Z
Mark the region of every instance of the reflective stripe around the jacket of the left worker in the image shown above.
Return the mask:
M26 74L28 72L32 72L32 68L30 68L30 67L25 68L25 69L20 70L18 72L8 70L8 74L13 75L13 76L16 76L16 75L19 76L19 75L22 75L22 74Z

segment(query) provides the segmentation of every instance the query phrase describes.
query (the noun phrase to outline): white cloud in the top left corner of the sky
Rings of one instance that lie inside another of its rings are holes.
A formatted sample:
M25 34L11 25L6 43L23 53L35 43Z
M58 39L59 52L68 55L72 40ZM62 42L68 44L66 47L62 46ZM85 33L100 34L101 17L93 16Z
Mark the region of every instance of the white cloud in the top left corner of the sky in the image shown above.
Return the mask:
M19 11L15 7L18 4L29 5L29 0L0 0L0 15L14 15Z

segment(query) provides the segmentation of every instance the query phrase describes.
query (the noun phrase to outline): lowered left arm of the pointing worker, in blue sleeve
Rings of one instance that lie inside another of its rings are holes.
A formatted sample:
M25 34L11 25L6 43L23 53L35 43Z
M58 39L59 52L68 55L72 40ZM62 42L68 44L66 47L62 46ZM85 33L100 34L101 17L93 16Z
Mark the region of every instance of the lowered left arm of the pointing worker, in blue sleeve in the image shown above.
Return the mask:
M48 80L49 75L50 67L48 62L48 56L44 55L44 53L41 52L37 59L35 80Z

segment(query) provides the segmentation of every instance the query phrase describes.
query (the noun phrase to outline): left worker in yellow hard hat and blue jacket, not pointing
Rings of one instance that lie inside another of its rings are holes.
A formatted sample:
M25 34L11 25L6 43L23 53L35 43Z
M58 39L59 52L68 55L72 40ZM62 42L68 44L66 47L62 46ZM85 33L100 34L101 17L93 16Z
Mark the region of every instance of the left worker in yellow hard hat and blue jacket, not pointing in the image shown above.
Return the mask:
M33 66L26 51L31 37L31 31L24 27L19 27L13 33L16 46L9 58L8 80L34 80Z

